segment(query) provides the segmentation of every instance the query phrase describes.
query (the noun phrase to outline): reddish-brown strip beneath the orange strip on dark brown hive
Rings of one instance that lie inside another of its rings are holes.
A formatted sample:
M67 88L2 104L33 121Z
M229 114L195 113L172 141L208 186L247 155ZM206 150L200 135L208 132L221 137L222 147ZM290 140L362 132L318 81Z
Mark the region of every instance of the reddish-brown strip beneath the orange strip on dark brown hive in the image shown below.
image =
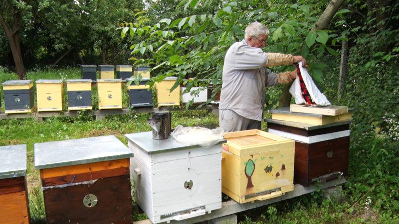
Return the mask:
M94 171L90 173L73 174L73 175L66 175L60 177L49 177L49 178L43 178L41 180L41 186L49 187L49 186L62 185L62 184L72 184L77 182L96 180L106 177L116 177L128 174L130 174L129 167L122 167L116 169Z

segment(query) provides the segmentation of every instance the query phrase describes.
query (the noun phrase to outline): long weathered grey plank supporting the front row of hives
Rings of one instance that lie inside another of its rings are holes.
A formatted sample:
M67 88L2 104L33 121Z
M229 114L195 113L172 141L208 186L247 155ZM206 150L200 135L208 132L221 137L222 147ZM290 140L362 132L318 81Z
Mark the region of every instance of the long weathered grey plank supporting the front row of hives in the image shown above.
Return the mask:
M222 206L221 206L221 209L212 211L210 214L205 214L205 215L200 216L200 217L187 219L187 220L184 221L184 223L185 224L194 224L194 223L199 223L199 222L206 221L206 220L212 220L212 219L215 219L215 218L236 214L236 213L243 212L243 211L246 211L246 210L250 210L250 209L254 209L254 208L270 205L270 204L273 204L273 203L276 203L276 202L280 202L280 201L283 201L283 200L287 200L287 199L295 198L295 197L298 197L298 196L301 196L301 195L309 194L311 192L316 191L317 189L326 189L326 188L335 187L337 185L342 185L345 182L346 182L345 178L342 177L340 179L336 179L336 180L332 180L330 182L322 183L320 188L316 188L315 186L304 187L302 185L296 184L294 186L294 190L293 191L287 192L283 196L280 196L280 197L277 197L277 198L268 199L268 200L265 200L265 201L254 201L252 203L239 204L239 203L237 203L237 202L235 202L233 200L230 200L230 201L227 201L227 202L223 202ZM150 224L150 223L151 223L150 220L142 220L142 221L134 222L134 224ZM181 222L179 222L179 221L171 221L171 223L181 223Z

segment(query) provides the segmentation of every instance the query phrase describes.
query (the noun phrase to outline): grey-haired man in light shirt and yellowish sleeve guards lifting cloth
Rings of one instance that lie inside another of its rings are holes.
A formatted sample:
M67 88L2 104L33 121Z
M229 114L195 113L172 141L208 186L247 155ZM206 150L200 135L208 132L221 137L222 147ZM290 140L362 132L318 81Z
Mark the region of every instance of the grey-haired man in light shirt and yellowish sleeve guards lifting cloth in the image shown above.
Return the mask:
M296 70L276 74L266 67L300 61L306 66L302 56L263 52L268 35L266 26L253 22L245 28L244 39L227 50L219 101L219 126L225 132L260 129L266 87L296 78Z

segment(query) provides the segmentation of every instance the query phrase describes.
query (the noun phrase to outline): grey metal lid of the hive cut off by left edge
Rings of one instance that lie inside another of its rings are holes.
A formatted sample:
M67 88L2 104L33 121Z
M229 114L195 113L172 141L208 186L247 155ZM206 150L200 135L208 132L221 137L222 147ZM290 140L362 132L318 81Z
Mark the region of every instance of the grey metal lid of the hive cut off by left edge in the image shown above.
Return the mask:
M0 179L26 175L26 144L0 147Z

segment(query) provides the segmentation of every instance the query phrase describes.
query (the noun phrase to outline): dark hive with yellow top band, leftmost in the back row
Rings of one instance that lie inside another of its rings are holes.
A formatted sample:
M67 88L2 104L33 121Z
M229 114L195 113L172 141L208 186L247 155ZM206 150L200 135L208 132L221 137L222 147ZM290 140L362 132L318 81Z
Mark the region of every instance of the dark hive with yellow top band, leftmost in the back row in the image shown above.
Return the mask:
M33 82L10 80L2 83L5 114L26 113L34 110Z

